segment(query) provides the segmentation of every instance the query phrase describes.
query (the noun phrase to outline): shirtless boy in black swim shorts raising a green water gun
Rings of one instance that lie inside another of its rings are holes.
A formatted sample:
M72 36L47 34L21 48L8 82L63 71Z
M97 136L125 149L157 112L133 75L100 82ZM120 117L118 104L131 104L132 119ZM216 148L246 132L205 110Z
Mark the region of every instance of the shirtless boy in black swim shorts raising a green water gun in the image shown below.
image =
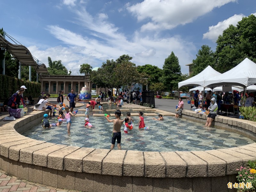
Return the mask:
M116 119L109 120L108 117L106 116L106 119L108 120L108 122L114 123L110 150L112 150L115 147L116 140L117 140L117 148L121 149L121 126L124 123L124 120L121 120L120 118L121 115L122 115L121 111L116 110L115 112Z

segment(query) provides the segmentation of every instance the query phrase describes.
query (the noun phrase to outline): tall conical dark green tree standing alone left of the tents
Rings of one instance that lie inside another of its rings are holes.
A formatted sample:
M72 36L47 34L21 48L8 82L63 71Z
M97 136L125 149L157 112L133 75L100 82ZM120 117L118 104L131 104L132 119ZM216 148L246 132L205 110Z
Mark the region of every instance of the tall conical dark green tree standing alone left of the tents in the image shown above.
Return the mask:
M171 92L174 87L178 87L181 76L179 59L175 54L171 53L165 60L163 66L163 83L165 87Z

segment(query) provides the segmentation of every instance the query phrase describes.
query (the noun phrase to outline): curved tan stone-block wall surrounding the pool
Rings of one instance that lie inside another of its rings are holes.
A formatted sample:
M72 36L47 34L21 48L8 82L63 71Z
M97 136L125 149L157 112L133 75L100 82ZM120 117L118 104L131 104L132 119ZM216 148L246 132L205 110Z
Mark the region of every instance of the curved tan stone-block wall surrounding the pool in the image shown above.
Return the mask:
M206 115L182 118L205 123ZM256 144L208 150L147 152L79 148L29 139L20 133L42 121L33 111L0 122L0 168L43 185L81 191L228 191L236 168L256 159ZM256 123L216 117L215 126L255 139Z

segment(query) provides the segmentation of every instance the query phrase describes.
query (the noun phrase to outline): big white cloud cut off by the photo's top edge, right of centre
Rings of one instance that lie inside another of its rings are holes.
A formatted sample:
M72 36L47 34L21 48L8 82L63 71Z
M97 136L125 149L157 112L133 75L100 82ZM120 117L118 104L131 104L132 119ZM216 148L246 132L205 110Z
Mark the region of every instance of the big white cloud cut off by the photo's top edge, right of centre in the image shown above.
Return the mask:
M144 0L137 4L126 4L126 8L137 20L150 20L141 27L141 31L172 29L196 20L199 16L211 12L237 0Z

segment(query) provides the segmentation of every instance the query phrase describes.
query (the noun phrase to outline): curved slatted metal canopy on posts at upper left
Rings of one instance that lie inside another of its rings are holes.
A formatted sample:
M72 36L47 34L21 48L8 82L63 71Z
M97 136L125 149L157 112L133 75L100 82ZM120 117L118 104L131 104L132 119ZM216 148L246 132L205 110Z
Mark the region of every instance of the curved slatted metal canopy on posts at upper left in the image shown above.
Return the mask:
M12 44L0 34L0 47L9 51L20 62L21 66L32 66L38 74L48 73L44 64L38 65L27 47L21 44Z

